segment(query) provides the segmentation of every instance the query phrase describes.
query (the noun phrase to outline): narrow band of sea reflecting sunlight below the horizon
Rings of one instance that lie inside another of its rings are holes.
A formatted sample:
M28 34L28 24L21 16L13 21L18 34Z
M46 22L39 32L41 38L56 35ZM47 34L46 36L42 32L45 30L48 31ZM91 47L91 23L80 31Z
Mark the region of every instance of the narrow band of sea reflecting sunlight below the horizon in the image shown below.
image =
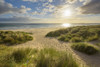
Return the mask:
M0 23L0 30L32 28L65 28L73 26L100 25L100 23Z

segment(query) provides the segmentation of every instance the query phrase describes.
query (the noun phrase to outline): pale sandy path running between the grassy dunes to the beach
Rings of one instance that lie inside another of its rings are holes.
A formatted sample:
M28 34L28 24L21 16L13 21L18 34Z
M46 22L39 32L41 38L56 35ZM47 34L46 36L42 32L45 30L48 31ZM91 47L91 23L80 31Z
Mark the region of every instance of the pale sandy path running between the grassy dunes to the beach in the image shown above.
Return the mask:
M83 53L73 51L69 47L68 43L60 42L55 38L46 38L45 37L45 35L48 32L56 30L56 29L58 29L58 28L14 30L14 31L32 32L33 33L32 36L34 37L34 40L27 42L27 43L24 43L24 44L16 45L16 46L13 46L13 47L14 48L31 47L31 48L38 48L38 49L41 49L43 47L53 47L53 48L56 48L56 49L59 49L59 50L64 50L64 51L68 50L68 51L72 52L75 57L77 57L79 63L82 62L83 64L85 64L83 62L83 61L85 61L86 64L91 65L90 67L100 67L100 54L88 56L88 55L85 55ZM82 60L80 60L80 58Z

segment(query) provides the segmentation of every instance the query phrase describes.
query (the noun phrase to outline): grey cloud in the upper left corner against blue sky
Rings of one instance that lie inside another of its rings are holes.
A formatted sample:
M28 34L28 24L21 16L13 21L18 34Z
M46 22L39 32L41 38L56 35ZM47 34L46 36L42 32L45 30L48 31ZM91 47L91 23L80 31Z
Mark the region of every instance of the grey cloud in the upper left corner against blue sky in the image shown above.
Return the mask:
M26 13L30 8L26 8L25 6L21 6L21 8L13 7L12 4L6 3L3 0L0 1L0 14L5 13Z

